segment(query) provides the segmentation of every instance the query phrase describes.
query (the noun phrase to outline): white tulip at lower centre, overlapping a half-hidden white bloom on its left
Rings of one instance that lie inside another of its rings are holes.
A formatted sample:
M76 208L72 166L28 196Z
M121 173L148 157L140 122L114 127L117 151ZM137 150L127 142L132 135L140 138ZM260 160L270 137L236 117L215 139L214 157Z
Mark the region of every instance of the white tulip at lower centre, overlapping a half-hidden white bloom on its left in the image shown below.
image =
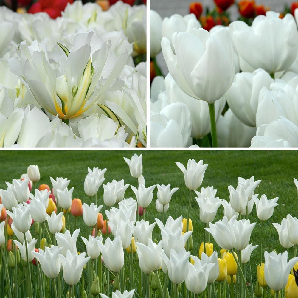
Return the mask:
M145 266L151 271L158 270L162 266L162 240L158 244L151 239L148 240L148 246L136 242L136 252L141 252Z

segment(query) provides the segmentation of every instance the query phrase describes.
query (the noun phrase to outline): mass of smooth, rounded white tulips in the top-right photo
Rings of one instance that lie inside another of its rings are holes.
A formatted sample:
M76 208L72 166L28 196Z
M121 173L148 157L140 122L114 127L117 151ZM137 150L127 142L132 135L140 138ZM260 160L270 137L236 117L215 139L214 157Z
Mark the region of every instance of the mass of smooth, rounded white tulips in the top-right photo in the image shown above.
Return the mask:
M297 18L298 10L295 10ZM201 28L151 11L153 147L297 147L297 23L267 11L251 25ZM162 77L162 51L169 73Z

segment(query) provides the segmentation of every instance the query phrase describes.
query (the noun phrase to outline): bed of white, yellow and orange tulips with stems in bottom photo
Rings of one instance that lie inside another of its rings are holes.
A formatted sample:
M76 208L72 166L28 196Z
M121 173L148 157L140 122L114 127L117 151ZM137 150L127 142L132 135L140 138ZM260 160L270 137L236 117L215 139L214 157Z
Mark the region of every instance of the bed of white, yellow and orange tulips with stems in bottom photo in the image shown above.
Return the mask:
M176 162L190 191L187 215L164 219L179 189L171 188L170 184L156 184L156 209L161 217L150 223L145 217L155 185L145 186L142 155L134 154L131 159L125 158L125 162L131 176L137 178L136 187L131 185L136 199L125 196L129 185L124 180L103 184L106 168L88 168L83 204L78 198L72 199L75 189L69 188L71 181L67 178L51 177L52 190L45 184L35 188L41 178L36 165L30 165L21 179L6 182L7 189L0 190L0 246L4 265L0 277L4 293L9 297L30 298L74 298L90 294L132 298L150 297L153 293L155 296L157 292L158 297L186 298L191 293L197 297L207 291L208 297L243 297L244 292L245 297L254 294L261 297L260 293L266 293L270 287L272 296L279 297L285 289L285 297L297 297L298 219L288 215L281 224L273 223L285 252L263 253L263 226L278 206L278 198L268 199L265 194L258 198L255 192L261 180L239 177L236 188L228 186L229 201L226 201L216 196L213 186L201 187L208 164L191 159L184 167ZM294 182L298 188L298 181L294 179ZM103 197L97 197L101 186ZM190 215L197 212L191 209L193 196L204 224L202 239L192 236ZM105 205L105 220L99 213L103 205L98 202ZM259 246L250 243L257 226L249 220L254 205L260 220ZM221 206L224 217L215 221ZM77 218L82 215L85 226L77 228ZM69 224L70 216L74 217L74 226ZM154 229L158 230L155 232L159 240L152 236ZM86 237L79 238L80 234ZM210 235L220 251L214 249ZM198 252L193 251L194 241L199 244ZM295 256L288 261L292 246ZM78 252L79 247L84 247L83 251ZM258 267L252 268L250 257L255 249L260 259ZM252 272L255 271L254 287ZM20 282L20 276L24 275L27 283ZM235 288L234 283L237 283Z

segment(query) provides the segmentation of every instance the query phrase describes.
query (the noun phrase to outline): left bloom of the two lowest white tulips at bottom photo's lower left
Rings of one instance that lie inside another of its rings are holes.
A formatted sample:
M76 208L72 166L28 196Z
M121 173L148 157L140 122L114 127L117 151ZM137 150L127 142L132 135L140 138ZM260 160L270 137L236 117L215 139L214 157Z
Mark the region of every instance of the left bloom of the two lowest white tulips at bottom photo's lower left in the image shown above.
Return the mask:
M56 246L45 247L45 250L38 249L38 252L32 252L33 256L41 265L44 275L49 278L56 278L61 270L61 261L58 254L62 248Z

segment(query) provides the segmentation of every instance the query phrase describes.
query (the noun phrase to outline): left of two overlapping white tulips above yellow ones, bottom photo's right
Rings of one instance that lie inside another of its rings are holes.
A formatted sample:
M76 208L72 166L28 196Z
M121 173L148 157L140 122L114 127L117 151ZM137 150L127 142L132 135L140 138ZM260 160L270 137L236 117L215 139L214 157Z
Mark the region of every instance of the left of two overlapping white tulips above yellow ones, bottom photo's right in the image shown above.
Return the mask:
M224 216L223 220L219 220L215 222L215 224L210 223L209 228L205 228L205 230L213 236L218 246L226 250L231 250L236 243L233 229L234 221L235 217L228 220L228 218Z

